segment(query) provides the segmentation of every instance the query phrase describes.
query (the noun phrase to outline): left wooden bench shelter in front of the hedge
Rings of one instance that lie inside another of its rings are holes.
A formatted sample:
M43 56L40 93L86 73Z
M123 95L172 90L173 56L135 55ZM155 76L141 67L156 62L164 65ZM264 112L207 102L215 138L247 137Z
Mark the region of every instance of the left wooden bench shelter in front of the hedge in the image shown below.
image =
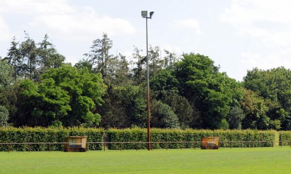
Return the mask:
M64 138L65 152L86 152L87 150L87 136L70 136Z

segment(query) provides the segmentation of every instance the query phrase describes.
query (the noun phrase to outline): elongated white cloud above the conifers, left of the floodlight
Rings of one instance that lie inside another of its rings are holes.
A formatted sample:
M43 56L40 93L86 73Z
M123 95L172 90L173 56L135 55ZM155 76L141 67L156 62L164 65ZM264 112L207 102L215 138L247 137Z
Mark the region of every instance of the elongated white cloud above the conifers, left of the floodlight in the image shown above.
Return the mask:
M82 38L101 34L132 34L135 28L127 20L109 16L98 16L95 12L85 10L78 14L39 15L29 23L32 27L49 29L50 33Z

